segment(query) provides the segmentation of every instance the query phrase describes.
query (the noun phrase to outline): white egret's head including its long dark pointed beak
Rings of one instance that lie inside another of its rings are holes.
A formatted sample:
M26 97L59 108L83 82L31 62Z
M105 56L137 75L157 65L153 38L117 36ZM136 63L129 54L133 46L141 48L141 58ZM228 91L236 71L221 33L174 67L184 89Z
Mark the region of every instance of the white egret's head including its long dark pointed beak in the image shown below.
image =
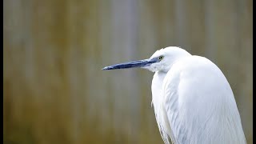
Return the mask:
M134 62L125 62L116 64L113 66L106 66L102 70L114 70L114 69L128 69L134 67L140 67L152 72L162 71L168 72L174 61L183 56L190 55L186 50L178 48L176 46L166 47L161 50L157 50L150 58L143 59Z

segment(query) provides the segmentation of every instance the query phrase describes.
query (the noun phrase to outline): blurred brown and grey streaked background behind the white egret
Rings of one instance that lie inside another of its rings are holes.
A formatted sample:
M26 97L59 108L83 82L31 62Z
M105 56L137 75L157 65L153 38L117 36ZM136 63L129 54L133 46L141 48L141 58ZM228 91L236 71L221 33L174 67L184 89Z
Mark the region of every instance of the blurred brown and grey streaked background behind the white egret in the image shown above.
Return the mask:
M163 143L153 73L102 71L181 46L220 67L253 142L253 0L4 0L4 143Z

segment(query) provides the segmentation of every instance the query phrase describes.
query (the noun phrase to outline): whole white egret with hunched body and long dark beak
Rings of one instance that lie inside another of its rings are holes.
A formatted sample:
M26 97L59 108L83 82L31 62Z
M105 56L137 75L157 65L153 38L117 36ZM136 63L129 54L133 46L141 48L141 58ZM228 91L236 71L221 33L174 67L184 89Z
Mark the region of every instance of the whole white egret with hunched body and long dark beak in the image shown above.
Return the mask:
M166 144L246 143L230 84L209 59L170 46L102 70L133 67L154 72L152 103Z

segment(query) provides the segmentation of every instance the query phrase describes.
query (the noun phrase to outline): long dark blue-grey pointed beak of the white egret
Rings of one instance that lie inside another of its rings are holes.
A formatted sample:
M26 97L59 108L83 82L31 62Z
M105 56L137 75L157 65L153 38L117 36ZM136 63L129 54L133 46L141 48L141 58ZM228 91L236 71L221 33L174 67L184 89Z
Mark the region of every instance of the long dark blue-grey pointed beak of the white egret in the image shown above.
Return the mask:
M125 62L125 63L119 63L112 66L106 66L102 70L115 70L115 69L129 69L134 67L146 67L150 66L152 63L158 62L157 58L152 59L143 59L139 61L134 62Z

